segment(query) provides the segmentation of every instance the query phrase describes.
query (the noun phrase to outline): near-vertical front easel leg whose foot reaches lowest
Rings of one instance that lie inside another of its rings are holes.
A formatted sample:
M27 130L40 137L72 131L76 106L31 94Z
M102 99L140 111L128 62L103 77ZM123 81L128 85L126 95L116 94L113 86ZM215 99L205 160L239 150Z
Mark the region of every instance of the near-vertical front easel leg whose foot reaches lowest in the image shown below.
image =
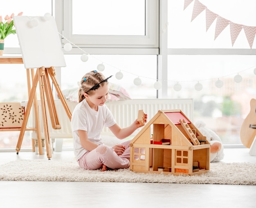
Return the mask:
M40 98L41 98L41 107L42 107L42 116L43 116L43 126L44 126L44 133L45 133L45 144L46 144L46 152L48 159L52 157L51 151L51 143L49 137L49 128L48 128L48 121L47 121L47 114L46 114L46 105L45 105L45 83L43 76L45 76L45 67L40 68L40 73L38 73L38 81L39 81L39 89L40 89Z

